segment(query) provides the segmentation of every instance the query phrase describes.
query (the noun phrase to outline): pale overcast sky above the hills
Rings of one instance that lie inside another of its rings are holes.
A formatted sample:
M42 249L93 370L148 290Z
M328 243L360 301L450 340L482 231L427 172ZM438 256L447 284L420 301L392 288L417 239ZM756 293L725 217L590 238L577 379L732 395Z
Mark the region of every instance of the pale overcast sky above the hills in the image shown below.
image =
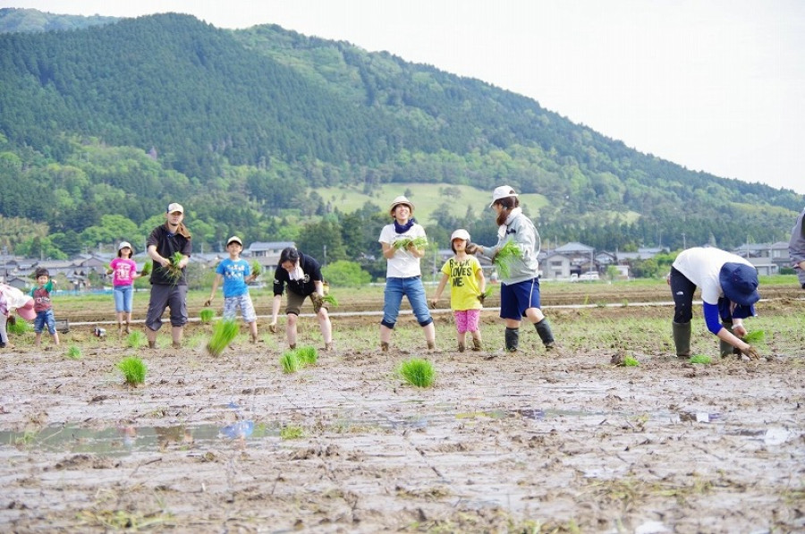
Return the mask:
M802 0L0 0L274 23L532 97L641 152L805 194Z

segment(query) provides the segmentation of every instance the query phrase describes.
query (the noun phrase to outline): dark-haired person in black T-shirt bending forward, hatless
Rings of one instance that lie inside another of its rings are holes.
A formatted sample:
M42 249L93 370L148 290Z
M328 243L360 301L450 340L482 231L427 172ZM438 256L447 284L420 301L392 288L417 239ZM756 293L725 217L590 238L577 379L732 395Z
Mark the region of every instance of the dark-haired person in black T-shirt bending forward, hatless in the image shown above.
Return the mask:
M285 324L285 337L288 346L296 348L297 323L301 306L308 297L313 302L313 312L318 318L318 326L324 337L325 351L333 350L333 325L330 323L325 296L325 282L321 275L321 266L312 256L302 254L293 247L280 252L279 263L274 269L274 301L271 303L271 323L268 329L276 332L276 316L279 313L283 300L284 288L288 287L288 305L285 315L288 322Z

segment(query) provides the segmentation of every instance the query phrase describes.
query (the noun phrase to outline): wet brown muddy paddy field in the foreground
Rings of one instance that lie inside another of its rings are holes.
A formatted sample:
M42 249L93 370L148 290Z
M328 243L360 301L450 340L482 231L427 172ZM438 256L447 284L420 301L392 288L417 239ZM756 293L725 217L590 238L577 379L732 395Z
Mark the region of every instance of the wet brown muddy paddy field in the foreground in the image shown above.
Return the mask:
M402 321L389 353L376 318L336 318L336 351L293 375L280 336L213 359L197 326L182 351L139 352L138 388L114 335L17 343L0 352L0 530L803 531L805 320L775 333L803 312L753 319L768 360L710 366L671 357L669 310L650 308L556 310L549 354L525 328L523 351L496 354L491 313L482 353L453 352L447 317L436 352ZM575 337L595 328L599 343ZM716 356L714 337L694 343ZM611 365L623 352L640 367ZM412 356L436 386L395 376Z

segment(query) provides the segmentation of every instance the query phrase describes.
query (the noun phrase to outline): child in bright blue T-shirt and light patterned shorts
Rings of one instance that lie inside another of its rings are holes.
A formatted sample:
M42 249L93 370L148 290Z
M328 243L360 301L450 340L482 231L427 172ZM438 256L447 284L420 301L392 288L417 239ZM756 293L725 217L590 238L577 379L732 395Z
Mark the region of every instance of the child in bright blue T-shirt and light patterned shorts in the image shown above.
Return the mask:
M251 273L249 262L241 258L242 250L243 242L240 237L233 235L226 241L226 251L229 252L229 258L222 259L221 263L216 267L216 280L213 282L213 289L209 293L209 299L204 302L204 305L210 305L216 297L218 285L223 280L224 318L235 318L237 309L240 308L243 320L249 325L251 343L257 343L257 314L254 311L254 305L251 303L249 286L246 285L257 278L257 275Z

